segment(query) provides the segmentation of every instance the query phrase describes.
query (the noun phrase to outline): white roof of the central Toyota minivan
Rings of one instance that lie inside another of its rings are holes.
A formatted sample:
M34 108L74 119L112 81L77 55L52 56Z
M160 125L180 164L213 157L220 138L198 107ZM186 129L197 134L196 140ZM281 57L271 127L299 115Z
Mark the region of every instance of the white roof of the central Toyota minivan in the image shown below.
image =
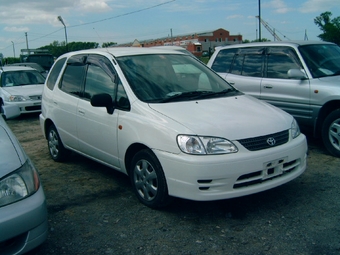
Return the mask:
M154 48L154 47L112 47L112 48L97 48L89 50L80 50L66 53L61 57L69 57L75 54L103 54L108 53L115 57L144 55L144 54L182 54L182 52L174 51L170 49Z

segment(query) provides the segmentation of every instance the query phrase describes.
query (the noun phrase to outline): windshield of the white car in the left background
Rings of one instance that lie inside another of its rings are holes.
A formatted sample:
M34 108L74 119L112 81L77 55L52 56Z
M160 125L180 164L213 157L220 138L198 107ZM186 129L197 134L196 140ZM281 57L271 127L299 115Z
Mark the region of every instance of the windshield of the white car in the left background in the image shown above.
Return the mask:
M2 87L44 84L45 78L36 70L9 71L2 74Z

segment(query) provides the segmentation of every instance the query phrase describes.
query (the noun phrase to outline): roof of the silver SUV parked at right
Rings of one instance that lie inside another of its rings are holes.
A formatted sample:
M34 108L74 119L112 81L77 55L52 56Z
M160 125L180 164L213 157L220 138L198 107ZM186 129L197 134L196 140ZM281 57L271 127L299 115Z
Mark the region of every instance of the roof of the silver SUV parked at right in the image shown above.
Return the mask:
M273 42L251 42L251 43L242 43L242 44L231 44L227 46L219 46L216 49L224 49L224 48L240 48L240 47L261 47L261 46L292 46L298 47L302 45L315 45L315 44L333 44L330 42L324 41L303 41L303 40L292 40L292 41L273 41Z

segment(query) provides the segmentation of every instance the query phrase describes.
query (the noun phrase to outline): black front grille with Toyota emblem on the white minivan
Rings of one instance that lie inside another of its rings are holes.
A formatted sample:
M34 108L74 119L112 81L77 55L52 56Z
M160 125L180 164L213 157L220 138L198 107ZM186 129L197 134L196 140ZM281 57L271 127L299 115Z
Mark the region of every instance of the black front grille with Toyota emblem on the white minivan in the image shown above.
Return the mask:
M285 131L278 132L275 134L241 139L241 140L238 140L238 142L250 151L258 151L258 150L264 150L264 149L282 145L288 142L288 138L289 138L289 130L285 130ZM268 142L269 139L271 141L273 141L274 139L275 143L270 145Z

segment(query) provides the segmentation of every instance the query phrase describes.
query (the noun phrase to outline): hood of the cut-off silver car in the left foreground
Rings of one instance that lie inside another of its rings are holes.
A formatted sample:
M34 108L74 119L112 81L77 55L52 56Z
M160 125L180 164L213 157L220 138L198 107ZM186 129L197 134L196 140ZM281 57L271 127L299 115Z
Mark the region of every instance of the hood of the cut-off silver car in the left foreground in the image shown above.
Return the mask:
M13 140L7 130L0 125L0 178L22 165L21 148L15 142L16 140Z

